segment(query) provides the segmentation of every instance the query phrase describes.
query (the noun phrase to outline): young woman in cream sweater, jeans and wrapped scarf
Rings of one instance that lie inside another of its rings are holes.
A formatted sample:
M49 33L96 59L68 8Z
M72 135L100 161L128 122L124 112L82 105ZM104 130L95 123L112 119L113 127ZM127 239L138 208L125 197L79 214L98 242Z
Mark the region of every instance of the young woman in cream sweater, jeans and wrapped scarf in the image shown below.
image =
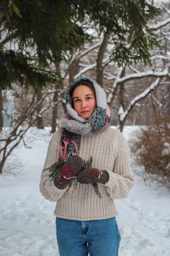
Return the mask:
M127 141L110 127L106 94L92 78L70 84L66 107L40 182L41 194L57 201L60 256L116 256L121 238L113 200L128 196L135 184Z

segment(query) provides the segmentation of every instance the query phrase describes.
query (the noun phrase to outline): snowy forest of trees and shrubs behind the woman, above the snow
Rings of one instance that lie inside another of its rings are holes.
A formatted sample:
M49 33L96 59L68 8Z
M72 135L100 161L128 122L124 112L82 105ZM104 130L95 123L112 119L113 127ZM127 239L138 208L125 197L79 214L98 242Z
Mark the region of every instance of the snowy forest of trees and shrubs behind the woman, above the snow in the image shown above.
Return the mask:
M132 150L150 178L158 173L169 187L169 153L162 152L170 151L170 5L122 3L3 1L0 173L10 172L9 156L21 140L29 147L24 137L30 127L56 131L69 84L90 76L107 93L111 125L121 132L124 125L149 127Z

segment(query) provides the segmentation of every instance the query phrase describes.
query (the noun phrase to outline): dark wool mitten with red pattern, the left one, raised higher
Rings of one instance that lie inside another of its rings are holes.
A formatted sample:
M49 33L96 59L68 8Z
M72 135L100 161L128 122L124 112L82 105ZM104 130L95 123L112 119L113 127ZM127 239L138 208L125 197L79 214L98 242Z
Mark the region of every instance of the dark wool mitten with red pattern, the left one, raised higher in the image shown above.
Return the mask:
M58 159L58 173L54 178L54 185L64 189L78 175L83 167L83 159L80 156L69 156L64 162L63 157Z

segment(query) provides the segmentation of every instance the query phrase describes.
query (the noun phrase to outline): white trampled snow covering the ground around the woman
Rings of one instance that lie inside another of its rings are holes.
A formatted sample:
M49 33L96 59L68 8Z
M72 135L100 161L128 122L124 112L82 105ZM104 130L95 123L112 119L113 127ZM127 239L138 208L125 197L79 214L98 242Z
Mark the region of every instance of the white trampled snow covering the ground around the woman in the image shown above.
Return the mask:
M137 127L125 127L125 137L129 139L135 129ZM31 149L22 146L15 150L15 156L25 164L21 174L0 177L1 256L59 255L53 213L55 202L49 202L39 192L51 135L48 129L38 131L36 128L29 134L35 132L37 139ZM133 161L131 166L132 169L135 166ZM119 256L170 255L170 194L166 189L155 190L136 176L136 185L129 196L115 200L115 205L121 234Z

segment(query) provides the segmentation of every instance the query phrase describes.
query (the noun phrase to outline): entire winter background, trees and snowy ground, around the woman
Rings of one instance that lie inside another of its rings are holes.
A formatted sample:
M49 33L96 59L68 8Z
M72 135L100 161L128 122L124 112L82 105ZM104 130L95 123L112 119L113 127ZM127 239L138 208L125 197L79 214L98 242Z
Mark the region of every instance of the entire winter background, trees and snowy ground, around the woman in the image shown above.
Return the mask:
M0 255L56 255L54 205L38 183L79 76L104 88L131 150L137 184L126 207L116 201L120 256L168 256L170 3L144 0L1 1Z

